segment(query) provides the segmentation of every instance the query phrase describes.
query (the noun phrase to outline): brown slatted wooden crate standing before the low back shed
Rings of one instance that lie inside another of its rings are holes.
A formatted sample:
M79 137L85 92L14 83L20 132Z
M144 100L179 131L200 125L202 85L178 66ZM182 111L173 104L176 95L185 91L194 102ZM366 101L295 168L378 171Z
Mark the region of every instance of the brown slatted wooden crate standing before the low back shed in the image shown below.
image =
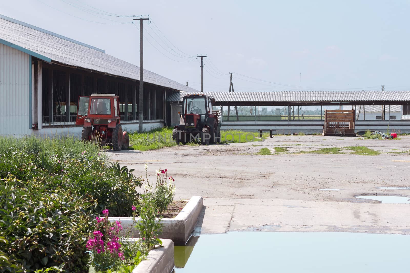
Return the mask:
M355 136L355 111L326 109L323 135Z

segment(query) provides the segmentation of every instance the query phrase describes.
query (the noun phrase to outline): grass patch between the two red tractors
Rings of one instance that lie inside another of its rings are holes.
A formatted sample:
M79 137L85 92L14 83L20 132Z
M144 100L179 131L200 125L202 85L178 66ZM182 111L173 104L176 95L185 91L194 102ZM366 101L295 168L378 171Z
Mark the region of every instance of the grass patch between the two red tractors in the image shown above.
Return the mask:
M168 127L154 129L144 133L130 133L130 144L134 150L148 151L163 147L176 146L172 141L172 129Z

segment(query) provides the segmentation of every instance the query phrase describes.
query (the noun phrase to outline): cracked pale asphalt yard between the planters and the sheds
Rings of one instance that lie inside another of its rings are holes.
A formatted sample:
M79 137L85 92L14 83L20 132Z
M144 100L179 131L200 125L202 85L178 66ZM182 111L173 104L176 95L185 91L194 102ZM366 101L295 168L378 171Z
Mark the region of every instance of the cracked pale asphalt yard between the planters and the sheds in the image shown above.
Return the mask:
M306 153L321 148L364 146L380 154ZM273 153L255 155L261 148ZM288 149L275 153L274 147ZM301 152L304 153L301 153ZM263 142L178 146L112 153L112 160L148 175L168 168L175 199L204 197L194 234L233 230L344 231L410 234L410 204L355 198L359 194L408 196L410 136L363 140L321 135L276 136ZM321 190L322 189L322 190ZM323 189L338 189L328 190Z

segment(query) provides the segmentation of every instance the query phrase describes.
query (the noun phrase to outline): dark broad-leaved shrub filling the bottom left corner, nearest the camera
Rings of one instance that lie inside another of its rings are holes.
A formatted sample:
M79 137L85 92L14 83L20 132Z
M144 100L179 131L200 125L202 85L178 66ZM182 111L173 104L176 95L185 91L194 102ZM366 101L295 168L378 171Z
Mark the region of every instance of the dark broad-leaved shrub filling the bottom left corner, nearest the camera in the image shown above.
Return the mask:
M90 204L84 196L49 192L31 182L0 180L0 237L7 240L2 251L28 272L61 264L83 270L87 256L80 246L90 228Z

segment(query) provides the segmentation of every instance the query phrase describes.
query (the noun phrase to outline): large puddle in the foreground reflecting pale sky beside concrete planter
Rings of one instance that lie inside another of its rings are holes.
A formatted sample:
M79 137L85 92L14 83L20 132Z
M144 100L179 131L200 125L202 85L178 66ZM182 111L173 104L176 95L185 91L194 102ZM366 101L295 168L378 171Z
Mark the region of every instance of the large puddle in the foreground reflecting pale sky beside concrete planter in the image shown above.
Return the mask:
M409 235L228 232L175 246L175 273L408 272ZM358 247L360 246L360 247Z

